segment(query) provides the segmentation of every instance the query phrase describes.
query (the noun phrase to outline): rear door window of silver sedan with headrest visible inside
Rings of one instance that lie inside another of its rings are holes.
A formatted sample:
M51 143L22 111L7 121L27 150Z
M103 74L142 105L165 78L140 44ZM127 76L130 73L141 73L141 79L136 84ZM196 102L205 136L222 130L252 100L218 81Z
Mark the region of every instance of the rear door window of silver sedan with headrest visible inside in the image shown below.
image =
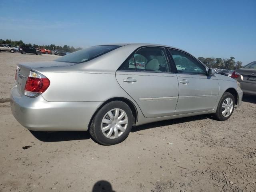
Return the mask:
M134 62L135 65L134 66ZM136 70L138 72L167 72L167 60L164 48L141 48L124 62L118 70Z

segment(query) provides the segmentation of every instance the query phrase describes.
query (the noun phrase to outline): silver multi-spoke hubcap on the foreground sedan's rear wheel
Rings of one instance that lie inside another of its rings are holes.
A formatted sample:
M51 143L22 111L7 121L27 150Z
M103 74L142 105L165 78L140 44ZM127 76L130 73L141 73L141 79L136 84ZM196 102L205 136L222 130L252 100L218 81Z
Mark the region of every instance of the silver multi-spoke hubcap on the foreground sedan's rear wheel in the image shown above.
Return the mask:
M120 137L128 126L128 117L124 110L116 108L108 111L101 122L101 131L106 138Z

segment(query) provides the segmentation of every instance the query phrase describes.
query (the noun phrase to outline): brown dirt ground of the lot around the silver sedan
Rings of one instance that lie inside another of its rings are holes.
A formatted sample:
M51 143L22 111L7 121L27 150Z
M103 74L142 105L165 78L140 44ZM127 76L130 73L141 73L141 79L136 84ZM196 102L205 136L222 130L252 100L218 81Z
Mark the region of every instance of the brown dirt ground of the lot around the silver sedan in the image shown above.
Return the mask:
M256 191L256 97L245 96L225 122L146 124L115 146L88 132L30 132L10 110L16 64L54 58L0 52L0 192Z

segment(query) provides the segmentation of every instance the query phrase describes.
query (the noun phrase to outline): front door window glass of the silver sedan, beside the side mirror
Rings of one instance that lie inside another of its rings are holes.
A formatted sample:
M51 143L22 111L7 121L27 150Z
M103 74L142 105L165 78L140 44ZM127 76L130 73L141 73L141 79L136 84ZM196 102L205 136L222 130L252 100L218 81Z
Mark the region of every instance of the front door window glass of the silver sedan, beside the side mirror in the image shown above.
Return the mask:
M206 68L192 56L178 50L168 50L172 55L178 73L206 75Z

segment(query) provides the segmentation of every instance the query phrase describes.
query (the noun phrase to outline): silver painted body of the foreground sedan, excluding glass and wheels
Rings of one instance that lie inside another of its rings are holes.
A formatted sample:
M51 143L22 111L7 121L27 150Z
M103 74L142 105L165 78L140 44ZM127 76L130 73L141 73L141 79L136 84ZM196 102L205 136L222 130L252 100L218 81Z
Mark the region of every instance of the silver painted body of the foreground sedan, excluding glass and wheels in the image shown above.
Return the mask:
M216 112L216 106L228 88L237 90L240 105L242 91L235 80L225 76L117 72L124 60L141 46L161 45L127 44L80 64L54 61L18 64L25 75L29 69L42 73L49 78L50 86L36 98L24 96L24 87L20 86L21 90L18 90L15 86L10 94L12 113L30 130L82 131L88 129L97 109L112 98L126 98L134 104L136 126ZM128 77L137 81L123 82ZM179 81L183 79L189 83L181 85ZM179 102L179 92L183 102Z

